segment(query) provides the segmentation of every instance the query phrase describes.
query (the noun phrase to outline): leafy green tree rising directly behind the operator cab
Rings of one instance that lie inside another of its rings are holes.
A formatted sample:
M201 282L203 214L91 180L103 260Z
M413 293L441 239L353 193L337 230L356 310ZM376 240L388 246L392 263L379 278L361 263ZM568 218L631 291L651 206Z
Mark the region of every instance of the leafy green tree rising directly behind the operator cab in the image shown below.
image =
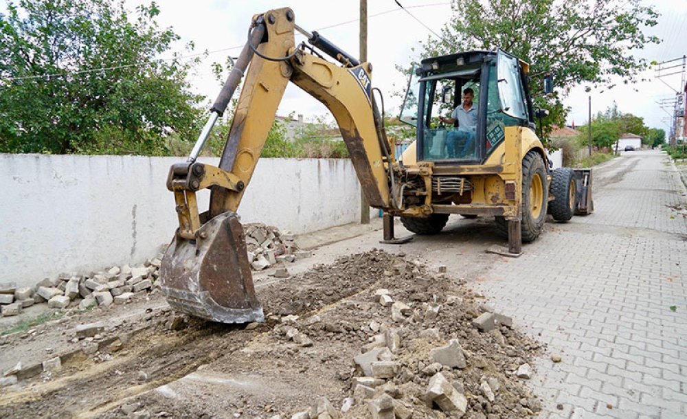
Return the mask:
M611 86L611 77L635 82L646 61L633 55L656 36L644 34L658 14L640 0L453 0L453 16L441 30L443 41L429 38L423 56L470 49L502 48L530 63L530 73L554 75L556 93L543 97L532 82L535 104L549 109L543 121L563 125L567 109L561 99L572 87L587 83Z

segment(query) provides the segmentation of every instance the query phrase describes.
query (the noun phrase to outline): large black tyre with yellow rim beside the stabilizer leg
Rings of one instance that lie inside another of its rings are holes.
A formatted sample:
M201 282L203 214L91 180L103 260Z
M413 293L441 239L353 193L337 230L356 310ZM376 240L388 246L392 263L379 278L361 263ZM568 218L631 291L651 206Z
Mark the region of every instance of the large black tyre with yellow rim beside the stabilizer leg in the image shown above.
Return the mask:
M527 153L522 159L522 221L520 223L522 241L537 240L546 221L546 169L541 156L536 151ZM499 234L508 238L508 220L503 216L494 217Z

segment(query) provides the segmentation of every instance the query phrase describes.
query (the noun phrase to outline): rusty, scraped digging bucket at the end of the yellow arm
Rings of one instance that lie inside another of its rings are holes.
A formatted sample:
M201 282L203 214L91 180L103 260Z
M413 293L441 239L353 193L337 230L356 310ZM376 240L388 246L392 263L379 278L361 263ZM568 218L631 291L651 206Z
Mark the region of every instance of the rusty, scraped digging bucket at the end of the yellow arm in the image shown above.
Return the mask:
M221 323L264 321L236 214L212 218L196 237L175 235L165 252L160 280L170 306Z

